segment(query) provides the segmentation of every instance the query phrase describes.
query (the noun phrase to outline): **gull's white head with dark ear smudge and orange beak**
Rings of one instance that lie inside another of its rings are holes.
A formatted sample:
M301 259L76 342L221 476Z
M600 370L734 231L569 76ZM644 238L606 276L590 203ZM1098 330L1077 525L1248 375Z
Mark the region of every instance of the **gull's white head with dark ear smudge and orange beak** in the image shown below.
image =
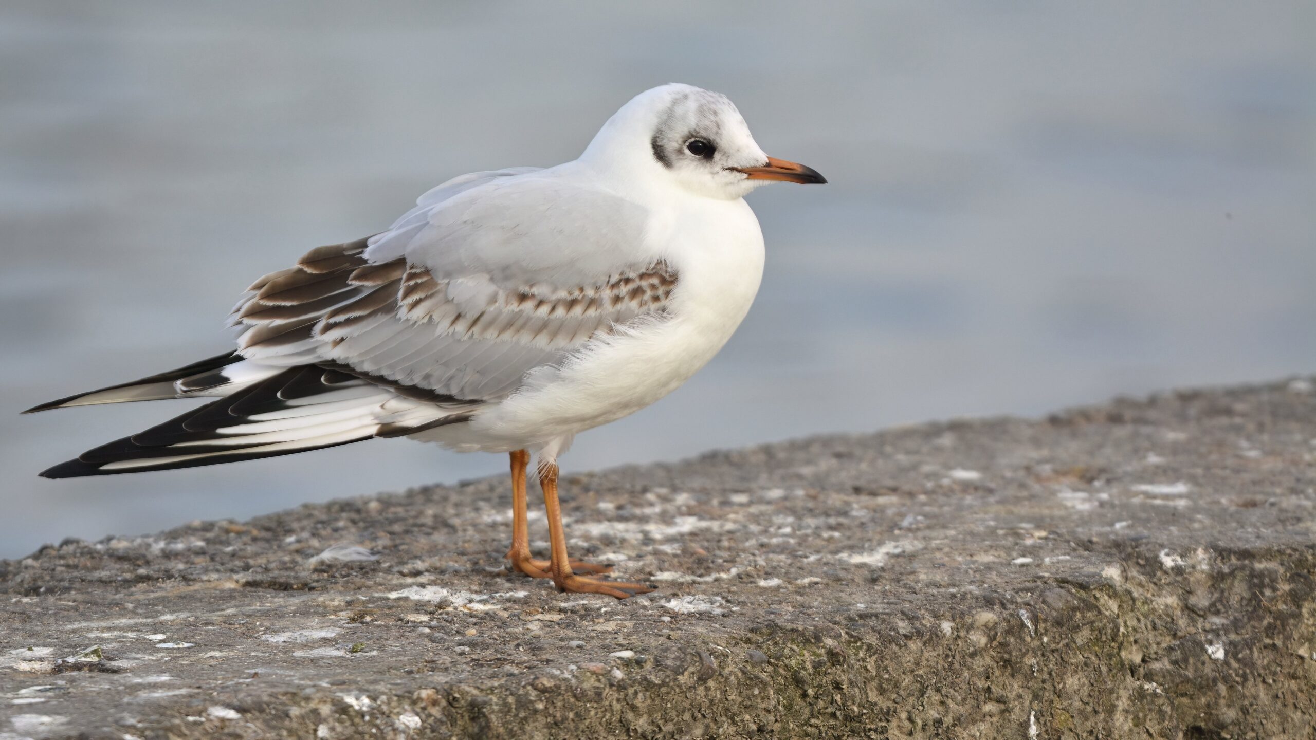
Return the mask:
M728 200L772 180L826 182L809 167L765 154L725 95L678 83L622 105L580 161Z

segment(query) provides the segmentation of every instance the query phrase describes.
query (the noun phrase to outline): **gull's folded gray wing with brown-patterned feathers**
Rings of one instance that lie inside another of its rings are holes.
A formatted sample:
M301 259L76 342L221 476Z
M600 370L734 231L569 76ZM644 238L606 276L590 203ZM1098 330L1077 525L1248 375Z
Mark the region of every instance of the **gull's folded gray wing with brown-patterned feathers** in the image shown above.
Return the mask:
M578 209L600 207L599 194L553 207L554 192L570 195L553 188L532 183L529 208L525 198L486 194L455 215L436 211L462 194L429 207L422 199L390 232L309 251L257 280L234 308L238 350L268 365L343 367L413 398L490 400L591 337L663 312L672 267L608 249L607 240L641 238L624 223L625 204L582 228Z

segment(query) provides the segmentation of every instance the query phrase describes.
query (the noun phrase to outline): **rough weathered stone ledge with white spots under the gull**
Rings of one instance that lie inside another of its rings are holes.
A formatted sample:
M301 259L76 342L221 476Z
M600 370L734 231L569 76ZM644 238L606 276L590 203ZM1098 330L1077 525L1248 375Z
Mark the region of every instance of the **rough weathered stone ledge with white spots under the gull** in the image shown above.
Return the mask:
M0 561L0 737L1312 737L1309 381L565 495L662 589L503 570L504 479Z

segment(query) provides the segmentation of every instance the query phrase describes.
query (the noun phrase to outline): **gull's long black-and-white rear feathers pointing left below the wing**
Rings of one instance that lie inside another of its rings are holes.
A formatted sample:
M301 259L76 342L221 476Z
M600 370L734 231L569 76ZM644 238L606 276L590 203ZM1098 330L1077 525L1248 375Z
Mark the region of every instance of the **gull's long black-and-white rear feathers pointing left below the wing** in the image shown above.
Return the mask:
M203 363L197 363L197 367ZM232 392L218 400L145 432L87 450L76 460L59 463L41 475L76 478L238 462L371 437L408 435L470 419L468 408L442 408L404 398L392 388L341 370L317 365L272 370L274 374L259 381L246 382L240 387L230 384ZM199 373L207 371L203 369ZM146 378L136 387L170 382L167 375ZM93 391L92 395L101 392L109 390ZM151 392L161 394L163 390ZM86 398L88 396L75 396ZM46 404L50 408L57 406Z

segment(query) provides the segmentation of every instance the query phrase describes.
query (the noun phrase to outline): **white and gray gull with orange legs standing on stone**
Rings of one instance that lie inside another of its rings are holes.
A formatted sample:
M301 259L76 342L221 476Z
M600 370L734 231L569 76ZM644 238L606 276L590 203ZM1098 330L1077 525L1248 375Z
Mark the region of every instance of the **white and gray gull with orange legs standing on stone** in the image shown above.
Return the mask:
M387 230L259 278L229 315L234 349L28 410L213 399L41 475L170 470L374 437L505 453L512 570L566 593L649 593L569 557L558 460L575 435L670 394L730 338L763 275L745 196L772 182L826 179L769 157L725 95L678 83L641 92L574 161L453 178ZM529 548L532 454L547 561Z

